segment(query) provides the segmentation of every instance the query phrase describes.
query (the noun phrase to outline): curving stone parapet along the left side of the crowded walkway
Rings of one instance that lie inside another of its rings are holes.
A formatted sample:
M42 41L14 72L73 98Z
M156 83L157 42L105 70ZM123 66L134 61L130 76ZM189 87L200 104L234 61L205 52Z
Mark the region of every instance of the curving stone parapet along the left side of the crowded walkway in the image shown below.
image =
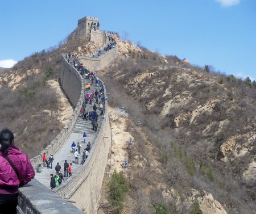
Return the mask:
M35 170L39 164L43 165L43 153L46 153L46 156L55 154L64 144L65 140L67 140L79 116L82 103L84 102L84 82L82 76L79 74L79 72L77 72L77 70L72 65L70 65L65 60L63 56L63 68L61 72L64 73L64 69L67 70L66 73L68 74L68 77L66 77L67 74L61 74L60 81L69 100L71 100L72 104L76 106L76 108L73 111L73 114L69 119L68 124L60 131L59 135L57 135L55 139L53 139L52 142L47 146L47 148L44 149L38 156L31 158L30 161ZM72 81L74 81L72 82L72 85L68 84L67 82L67 79L69 79L70 81L70 78L72 78Z

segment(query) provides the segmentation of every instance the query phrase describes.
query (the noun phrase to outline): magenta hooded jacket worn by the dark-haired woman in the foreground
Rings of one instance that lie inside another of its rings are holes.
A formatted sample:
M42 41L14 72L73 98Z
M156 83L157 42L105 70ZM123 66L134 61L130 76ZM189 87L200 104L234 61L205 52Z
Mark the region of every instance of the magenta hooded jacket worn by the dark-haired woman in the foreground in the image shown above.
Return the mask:
M1 151L0 154L2 154ZM11 145L8 151L8 157L14 166L16 166L20 181L10 163L0 155L0 194L15 194L18 192L20 183L27 184L35 177L35 170L30 160L18 148Z

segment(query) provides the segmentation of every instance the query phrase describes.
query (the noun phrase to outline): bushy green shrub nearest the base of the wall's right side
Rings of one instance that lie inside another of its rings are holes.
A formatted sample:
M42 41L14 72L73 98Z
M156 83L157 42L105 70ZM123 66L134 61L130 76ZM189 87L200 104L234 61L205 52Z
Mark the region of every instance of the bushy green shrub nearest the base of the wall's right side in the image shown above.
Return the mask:
M117 173L115 170L107 184L108 199L114 208L114 213L120 213L122 211L125 194L128 190L129 186L122 172Z

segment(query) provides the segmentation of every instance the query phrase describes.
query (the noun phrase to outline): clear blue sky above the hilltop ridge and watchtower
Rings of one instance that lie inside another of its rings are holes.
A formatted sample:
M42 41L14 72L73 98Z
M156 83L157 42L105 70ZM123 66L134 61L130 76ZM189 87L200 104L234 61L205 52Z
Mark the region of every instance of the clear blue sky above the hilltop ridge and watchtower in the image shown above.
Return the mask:
M255 14L255 0L5 1L0 66L57 45L88 15L152 51L256 79Z

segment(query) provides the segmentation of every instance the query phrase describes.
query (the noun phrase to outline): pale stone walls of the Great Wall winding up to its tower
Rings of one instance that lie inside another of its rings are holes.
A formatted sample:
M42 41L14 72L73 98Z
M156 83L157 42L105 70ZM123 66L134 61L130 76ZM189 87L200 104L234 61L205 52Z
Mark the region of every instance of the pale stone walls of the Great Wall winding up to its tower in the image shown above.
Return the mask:
M92 26L97 18L87 16L79 20L77 35L89 35L81 26L86 24ZM88 28L89 29L89 28ZM92 28L90 28L92 30ZM106 41L106 32L97 29L97 33L90 33L91 41ZM90 70L102 69L117 57L117 45L110 51L99 57L86 56L79 60ZM65 94L75 106L69 123L61 130L59 135L44 149L38 156L31 159L31 163L36 170L39 164L43 165L42 155L45 152L56 154L71 135L77 119L79 118L82 103L84 103L84 78L80 73L67 62L63 55L63 66L61 69L60 82ZM100 81L106 89L104 83ZM106 100L105 119L101 121L100 131L97 133L93 146L86 159L86 163L76 171L73 178L65 184L49 190L37 179L33 179L29 184L19 189L18 213L97 213L102 181L105 174L105 167L108 160L108 153L111 144L111 131L108 117L108 101ZM48 179L49 183L49 179ZM72 202L72 203L71 203ZM82 210L82 211L81 211ZM83 212L84 211L84 212Z

